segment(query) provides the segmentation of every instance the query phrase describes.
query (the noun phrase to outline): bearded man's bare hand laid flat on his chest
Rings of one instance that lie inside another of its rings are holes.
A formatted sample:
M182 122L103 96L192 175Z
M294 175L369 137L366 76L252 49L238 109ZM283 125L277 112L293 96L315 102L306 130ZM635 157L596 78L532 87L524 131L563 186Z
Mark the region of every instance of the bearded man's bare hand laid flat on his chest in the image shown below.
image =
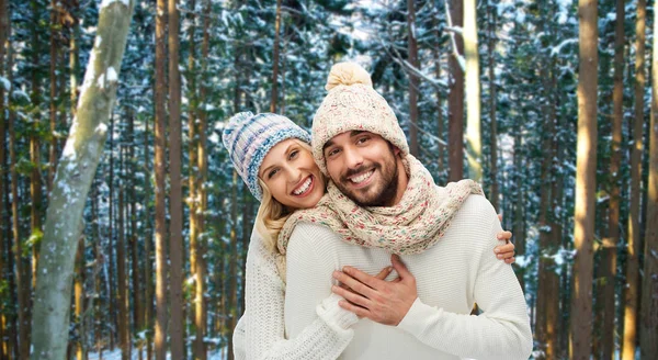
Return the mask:
M349 288L349 290L336 285L331 288L334 293L347 300L340 301L339 305L359 317L397 326L413 305L418 292L416 278L407 270L400 258L393 255L390 262L399 275L393 281L377 279L352 267L344 267L342 272L334 271L333 278Z

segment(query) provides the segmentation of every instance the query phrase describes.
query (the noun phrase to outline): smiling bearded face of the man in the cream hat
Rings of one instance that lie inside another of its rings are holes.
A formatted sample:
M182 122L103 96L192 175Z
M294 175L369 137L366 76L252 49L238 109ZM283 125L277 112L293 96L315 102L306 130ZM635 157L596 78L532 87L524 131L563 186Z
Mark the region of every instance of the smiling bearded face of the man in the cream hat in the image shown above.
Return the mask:
M382 136L351 131L333 136L324 154L329 177L360 206L390 206L398 185L394 148Z

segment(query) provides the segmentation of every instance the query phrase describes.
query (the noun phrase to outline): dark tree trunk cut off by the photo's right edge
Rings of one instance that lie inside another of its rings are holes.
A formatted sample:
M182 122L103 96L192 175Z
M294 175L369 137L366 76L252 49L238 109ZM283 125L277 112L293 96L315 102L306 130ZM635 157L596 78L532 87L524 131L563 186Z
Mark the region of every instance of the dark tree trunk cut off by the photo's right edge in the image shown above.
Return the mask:
M654 1L656 9L656 1ZM623 19L623 18L622 18ZM654 20L654 34L658 34ZM647 183L647 217L645 260L642 286L642 320L639 345L642 359L658 358L658 37L654 35L651 57L651 124L649 126L649 179Z

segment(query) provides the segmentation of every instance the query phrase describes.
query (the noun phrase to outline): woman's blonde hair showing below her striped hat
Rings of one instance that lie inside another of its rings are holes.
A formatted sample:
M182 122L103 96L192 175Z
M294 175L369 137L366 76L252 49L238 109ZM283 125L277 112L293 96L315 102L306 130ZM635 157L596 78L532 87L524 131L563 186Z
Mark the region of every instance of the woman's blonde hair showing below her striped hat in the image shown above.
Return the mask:
M311 153L310 145L296 138L294 140L305 150ZM263 191L263 199L258 207L258 214L256 215L256 230L263 238L263 241L270 251L280 254L276 248L279 233L296 209L291 210L274 199L270 188L268 188L260 177L258 178L258 183Z

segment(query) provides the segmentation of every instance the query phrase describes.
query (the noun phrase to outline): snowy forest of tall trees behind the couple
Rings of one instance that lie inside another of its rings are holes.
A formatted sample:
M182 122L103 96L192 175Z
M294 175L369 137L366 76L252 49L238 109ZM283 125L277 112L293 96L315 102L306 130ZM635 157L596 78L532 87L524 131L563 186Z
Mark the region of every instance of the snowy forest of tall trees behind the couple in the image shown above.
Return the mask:
M658 359L646 0L0 0L0 359L232 359L240 111L310 130L353 60L513 233L536 359Z

